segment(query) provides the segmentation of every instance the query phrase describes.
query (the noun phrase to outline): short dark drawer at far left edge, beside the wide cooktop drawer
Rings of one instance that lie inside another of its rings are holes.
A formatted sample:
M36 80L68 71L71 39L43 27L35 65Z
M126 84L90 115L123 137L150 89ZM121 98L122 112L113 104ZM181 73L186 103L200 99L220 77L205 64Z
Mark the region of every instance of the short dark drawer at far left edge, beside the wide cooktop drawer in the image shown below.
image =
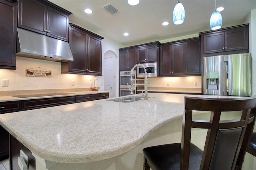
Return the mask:
M21 101L6 101L0 103L0 114L21 111Z

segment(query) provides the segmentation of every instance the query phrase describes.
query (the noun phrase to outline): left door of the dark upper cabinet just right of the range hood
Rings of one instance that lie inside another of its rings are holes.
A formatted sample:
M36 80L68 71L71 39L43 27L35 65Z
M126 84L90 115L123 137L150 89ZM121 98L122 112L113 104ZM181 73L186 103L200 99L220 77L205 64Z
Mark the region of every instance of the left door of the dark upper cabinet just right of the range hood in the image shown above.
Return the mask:
M86 73L87 39L88 34L76 28L69 28L69 45L74 61L62 63L62 66L68 63L68 72ZM64 71L63 69L64 68L62 68L62 71Z

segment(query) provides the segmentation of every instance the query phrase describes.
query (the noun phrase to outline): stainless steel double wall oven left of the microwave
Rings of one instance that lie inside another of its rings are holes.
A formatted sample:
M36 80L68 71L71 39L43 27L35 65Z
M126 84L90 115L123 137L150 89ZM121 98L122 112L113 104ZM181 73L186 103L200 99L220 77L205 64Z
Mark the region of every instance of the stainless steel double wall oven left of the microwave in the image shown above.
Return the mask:
M131 71L120 71L119 75L119 96L130 95L131 92L127 87L127 83L131 85ZM136 79L136 71L134 71L132 79ZM136 83L136 80L133 83ZM136 94L136 91L133 91L133 94Z

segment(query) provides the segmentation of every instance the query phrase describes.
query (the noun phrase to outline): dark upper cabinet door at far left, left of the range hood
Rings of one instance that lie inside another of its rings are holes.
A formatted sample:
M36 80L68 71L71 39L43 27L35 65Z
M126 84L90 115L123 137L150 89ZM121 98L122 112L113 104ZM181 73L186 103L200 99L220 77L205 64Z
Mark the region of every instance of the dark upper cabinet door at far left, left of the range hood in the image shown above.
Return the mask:
M16 69L17 5L0 1L0 69Z

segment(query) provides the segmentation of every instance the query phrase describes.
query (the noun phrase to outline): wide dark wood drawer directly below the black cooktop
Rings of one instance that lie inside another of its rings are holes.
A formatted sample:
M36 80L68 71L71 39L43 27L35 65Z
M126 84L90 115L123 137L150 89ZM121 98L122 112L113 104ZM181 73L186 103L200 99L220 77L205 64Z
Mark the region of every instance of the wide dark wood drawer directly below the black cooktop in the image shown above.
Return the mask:
M52 107L76 103L75 96L53 97L48 99L33 99L22 101L22 110L39 109L44 107Z

